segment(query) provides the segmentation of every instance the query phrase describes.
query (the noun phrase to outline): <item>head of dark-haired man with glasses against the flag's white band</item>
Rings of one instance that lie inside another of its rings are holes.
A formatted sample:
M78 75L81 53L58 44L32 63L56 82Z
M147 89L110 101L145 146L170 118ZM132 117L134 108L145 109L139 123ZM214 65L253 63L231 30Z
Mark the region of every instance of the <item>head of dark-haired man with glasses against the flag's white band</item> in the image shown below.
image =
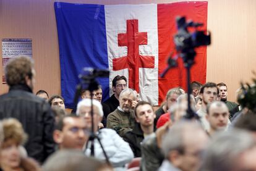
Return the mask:
M127 88L127 79L124 76L117 75L112 81L113 92L119 97L122 90Z

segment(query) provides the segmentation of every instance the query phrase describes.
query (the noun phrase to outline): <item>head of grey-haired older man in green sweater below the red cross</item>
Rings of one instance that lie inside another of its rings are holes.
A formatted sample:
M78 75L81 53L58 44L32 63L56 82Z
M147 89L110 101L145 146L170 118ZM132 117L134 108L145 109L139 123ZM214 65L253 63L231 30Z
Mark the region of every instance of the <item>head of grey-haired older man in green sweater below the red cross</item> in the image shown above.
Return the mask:
M136 94L134 90L127 88L123 90L119 96L120 107L124 112L129 112L132 109L132 102L135 101Z

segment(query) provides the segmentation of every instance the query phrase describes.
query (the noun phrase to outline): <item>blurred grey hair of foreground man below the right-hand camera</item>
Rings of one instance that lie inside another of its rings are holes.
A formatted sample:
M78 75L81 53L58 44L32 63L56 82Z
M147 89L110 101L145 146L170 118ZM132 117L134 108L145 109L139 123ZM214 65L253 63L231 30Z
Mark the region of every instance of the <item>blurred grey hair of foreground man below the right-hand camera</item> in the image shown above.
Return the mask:
M202 127L195 122L189 122L187 120L182 120L176 122L173 127L171 127L163 136L163 141L161 148L163 150L164 156L168 158L170 151L178 151L181 154L184 152L184 132L202 130Z

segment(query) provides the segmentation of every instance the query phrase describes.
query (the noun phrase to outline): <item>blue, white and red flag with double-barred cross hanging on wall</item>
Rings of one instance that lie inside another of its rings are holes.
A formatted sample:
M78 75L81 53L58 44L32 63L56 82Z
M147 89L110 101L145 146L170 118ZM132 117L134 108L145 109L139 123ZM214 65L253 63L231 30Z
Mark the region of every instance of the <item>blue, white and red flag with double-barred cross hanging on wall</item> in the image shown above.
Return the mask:
M207 29L206 1L171 4L98 5L54 2L59 37L61 91L67 107L74 107L75 86L83 67L109 69L109 78L99 80L103 99L113 92L116 75L128 79L140 97L153 105L163 101L170 88L186 88L186 70L179 67L164 78L166 59L174 49L176 17L202 22ZM191 80L205 83L207 48L196 49Z

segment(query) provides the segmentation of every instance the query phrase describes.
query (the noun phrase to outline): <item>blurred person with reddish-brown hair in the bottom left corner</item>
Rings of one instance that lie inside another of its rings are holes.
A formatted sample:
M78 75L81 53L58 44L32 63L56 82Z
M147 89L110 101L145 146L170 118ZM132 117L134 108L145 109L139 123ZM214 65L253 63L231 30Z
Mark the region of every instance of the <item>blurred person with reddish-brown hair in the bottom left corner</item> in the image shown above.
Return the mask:
M20 151L24 149L22 144L27 140L27 135L23 131L21 123L16 119L4 119L2 121L4 141L0 150L0 170L40 170L39 165L28 158Z

